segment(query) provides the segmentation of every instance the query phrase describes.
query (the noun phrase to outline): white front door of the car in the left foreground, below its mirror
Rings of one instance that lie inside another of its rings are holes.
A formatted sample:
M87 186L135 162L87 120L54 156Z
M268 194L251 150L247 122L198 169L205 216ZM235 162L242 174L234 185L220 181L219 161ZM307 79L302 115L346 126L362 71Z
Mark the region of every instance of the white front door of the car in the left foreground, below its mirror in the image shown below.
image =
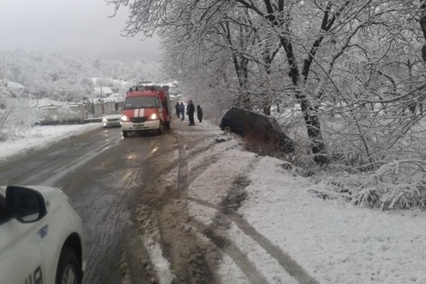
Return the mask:
M45 283L38 246L43 220L23 224L2 206L5 209L4 194L0 192L0 283Z

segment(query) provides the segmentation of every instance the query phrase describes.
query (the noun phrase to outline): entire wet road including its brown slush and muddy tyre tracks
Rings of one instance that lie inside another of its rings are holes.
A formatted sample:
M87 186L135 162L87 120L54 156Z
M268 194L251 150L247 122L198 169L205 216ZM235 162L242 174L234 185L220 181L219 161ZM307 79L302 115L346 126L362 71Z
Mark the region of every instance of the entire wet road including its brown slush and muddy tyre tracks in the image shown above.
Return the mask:
M220 204L190 194L192 181L220 159L208 154L214 132L179 122L161 136L123 139L120 128L91 130L12 159L0 168L0 180L67 193L85 229L84 283L227 283L223 263L240 283L275 282L229 230L240 230L276 263L278 282L316 283L236 212L244 198L238 192L247 185L243 176L229 176L235 190ZM203 163L190 167L203 155ZM205 210L215 212L212 222L199 219Z

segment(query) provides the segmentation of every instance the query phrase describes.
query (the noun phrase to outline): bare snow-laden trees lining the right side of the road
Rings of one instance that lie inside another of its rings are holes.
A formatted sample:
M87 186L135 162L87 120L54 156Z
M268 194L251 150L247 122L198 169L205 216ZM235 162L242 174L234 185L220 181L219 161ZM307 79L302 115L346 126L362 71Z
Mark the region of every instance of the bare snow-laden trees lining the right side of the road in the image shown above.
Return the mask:
M426 158L424 1L107 2L130 8L128 36L161 36L168 70L216 113L274 106L277 117L304 123L317 163L381 169L381 180L403 165L398 182L423 195L414 184L425 174L417 158Z

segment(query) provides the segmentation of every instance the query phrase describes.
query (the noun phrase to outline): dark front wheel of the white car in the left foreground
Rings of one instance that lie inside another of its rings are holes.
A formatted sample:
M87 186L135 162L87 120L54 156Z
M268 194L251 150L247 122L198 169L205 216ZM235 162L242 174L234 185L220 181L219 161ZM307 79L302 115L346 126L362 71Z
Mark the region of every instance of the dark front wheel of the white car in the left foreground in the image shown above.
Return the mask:
M80 284L82 280L80 265L76 254L69 248L60 252L56 270L56 284Z

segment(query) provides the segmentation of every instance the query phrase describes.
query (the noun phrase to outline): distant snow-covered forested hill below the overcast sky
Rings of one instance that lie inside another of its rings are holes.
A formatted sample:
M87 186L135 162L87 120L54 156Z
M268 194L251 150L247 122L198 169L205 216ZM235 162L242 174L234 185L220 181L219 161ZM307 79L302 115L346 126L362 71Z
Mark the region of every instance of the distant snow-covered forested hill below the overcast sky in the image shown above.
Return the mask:
M157 80L160 69L159 62L144 58L91 58L22 49L0 50L2 86L7 82L18 83L25 87L26 95L63 102L76 102L82 93L91 93L98 85L116 89L115 82Z

